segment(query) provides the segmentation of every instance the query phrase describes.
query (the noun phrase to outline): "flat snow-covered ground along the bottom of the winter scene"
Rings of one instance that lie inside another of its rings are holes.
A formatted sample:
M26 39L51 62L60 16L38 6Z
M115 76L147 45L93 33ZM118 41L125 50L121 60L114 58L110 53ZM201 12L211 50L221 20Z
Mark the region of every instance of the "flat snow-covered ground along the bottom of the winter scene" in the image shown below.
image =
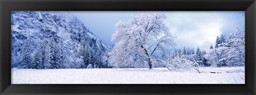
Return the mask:
M12 68L12 84L244 84L244 67L200 67L196 72L167 68L35 70ZM212 72L212 73L211 73Z

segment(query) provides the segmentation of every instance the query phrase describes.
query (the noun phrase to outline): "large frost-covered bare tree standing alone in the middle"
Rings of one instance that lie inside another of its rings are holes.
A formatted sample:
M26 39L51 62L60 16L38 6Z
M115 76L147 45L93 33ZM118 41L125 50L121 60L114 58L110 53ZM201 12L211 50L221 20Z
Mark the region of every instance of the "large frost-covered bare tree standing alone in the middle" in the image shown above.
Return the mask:
M153 12L133 15L127 22L116 23L111 39L116 44L109 53L110 64L114 67L148 64L150 70L154 61L162 63L156 52L164 53L165 47L175 46L175 36L164 24L164 19L164 13Z

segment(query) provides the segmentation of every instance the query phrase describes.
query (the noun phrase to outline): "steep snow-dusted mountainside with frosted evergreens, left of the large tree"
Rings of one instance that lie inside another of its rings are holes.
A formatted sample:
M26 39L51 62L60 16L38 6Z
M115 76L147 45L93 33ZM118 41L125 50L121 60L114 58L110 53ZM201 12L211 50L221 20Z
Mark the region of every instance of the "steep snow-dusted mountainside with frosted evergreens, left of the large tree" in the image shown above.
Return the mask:
M12 11L12 67L106 68L111 47L64 12Z

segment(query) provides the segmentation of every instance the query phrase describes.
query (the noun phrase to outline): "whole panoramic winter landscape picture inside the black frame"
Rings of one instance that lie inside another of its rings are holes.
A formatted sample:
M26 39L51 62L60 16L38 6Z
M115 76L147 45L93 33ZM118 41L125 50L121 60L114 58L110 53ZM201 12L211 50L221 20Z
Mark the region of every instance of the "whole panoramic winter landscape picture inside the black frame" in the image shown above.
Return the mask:
M11 15L12 84L245 83L244 12Z

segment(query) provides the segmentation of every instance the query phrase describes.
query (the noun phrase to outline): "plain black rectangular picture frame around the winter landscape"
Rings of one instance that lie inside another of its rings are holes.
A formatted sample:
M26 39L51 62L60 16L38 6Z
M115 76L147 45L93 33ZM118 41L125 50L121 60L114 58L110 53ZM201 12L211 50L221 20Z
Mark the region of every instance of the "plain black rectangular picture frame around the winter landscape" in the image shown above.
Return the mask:
M0 0L0 94L256 94L255 0ZM11 11L245 11L245 84L11 84Z

